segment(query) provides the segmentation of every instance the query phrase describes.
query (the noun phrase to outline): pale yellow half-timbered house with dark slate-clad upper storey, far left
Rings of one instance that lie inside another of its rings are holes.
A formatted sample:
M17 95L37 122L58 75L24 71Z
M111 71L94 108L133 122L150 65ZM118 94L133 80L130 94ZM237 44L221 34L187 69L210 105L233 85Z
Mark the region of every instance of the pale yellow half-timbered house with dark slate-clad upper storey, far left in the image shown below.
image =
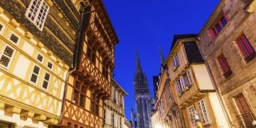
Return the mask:
M70 1L0 1L0 127L60 121L78 32Z

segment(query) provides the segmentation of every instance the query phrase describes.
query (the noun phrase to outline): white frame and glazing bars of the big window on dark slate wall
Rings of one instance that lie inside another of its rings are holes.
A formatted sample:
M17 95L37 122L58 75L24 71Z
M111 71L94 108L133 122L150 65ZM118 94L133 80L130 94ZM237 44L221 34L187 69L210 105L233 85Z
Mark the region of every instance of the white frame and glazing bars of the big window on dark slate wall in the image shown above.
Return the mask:
M31 6L33 6L33 1L38 1L38 0L31 0L30 4L28 6L28 9L26 10L25 16L26 16L26 18L28 18L29 21L31 21L36 26L36 28L38 28L40 31L43 31L43 26L44 26L44 23L46 22L46 18L47 18L48 12L50 10L50 6L46 3L46 1L41 0L40 4L38 6L38 10L36 11L36 16L35 16L34 20L32 20L31 18L28 17L28 14L29 14L29 11L31 9ZM41 10L41 8L43 6L43 3L45 3L46 6L48 6L48 9L46 11L45 18L43 19L42 27L40 28L39 26L36 25L36 21L38 20L38 15L39 15L40 10Z

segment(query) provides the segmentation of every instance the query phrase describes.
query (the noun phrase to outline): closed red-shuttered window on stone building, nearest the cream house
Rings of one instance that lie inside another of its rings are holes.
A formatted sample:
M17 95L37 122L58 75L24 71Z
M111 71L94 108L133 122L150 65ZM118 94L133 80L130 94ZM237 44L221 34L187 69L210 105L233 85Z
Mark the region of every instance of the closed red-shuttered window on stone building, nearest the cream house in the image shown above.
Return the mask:
M217 60L223 72L223 75L225 76L225 78L227 78L229 75L232 74L232 72L230 70L230 66L228 65L227 60L225 59L225 56L221 54L220 56L218 56Z

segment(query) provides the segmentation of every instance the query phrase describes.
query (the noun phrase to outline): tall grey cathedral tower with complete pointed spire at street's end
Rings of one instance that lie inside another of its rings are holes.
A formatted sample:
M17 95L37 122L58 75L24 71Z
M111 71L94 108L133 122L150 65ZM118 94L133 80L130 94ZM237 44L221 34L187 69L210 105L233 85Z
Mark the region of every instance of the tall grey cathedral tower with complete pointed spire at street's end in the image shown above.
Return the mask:
M151 127L151 97L149 92L149 83L146 75L143 73L142 65L137 53L137 69L134 76L134 92L136 104L137 126L139 128ZM134 124L134 113L132 111L132 127Z

